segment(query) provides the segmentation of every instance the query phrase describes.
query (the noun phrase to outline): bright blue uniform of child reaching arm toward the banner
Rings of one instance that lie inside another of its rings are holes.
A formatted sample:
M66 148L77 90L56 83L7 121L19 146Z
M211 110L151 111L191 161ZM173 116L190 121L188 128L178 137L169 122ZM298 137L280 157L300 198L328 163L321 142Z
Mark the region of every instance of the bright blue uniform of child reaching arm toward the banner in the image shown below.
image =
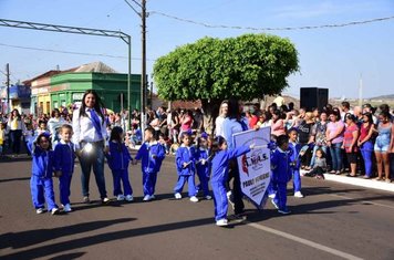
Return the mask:
M212 158L212 174L210 185L214 191L215 220L225 219L227 216L228 200L226 181L228 179L229 160L248 153L248 146L218 152Z

